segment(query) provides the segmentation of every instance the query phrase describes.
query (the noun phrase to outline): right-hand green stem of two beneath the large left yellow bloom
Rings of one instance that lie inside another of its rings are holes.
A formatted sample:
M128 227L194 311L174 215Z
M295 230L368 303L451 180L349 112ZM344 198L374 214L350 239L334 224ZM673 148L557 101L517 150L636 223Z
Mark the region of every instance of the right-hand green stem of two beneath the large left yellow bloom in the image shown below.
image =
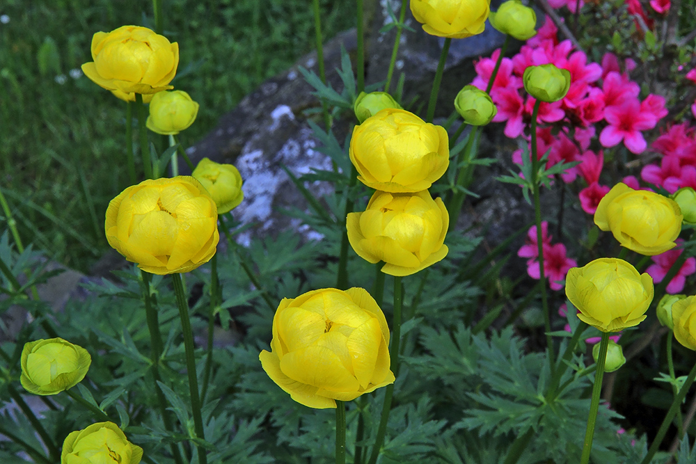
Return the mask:
M189 304L186 301L184 294L184 284L181 280L181 274L172 274L174 282L174 293L176 294L176 302L179 307L179 318L181 319L181 327L184 335L184 348L186 349L186 370L189 374L189 392L191 392L191 413L193 413L193 427L196 430L196 438L205 440L203 432L203 417L200 415L200 398L198 397L198 378L196 378L196 357L193 353L193 332L191 331L191 319L189 319ZM198 463L207 463L207 451L203 445L198 447Z

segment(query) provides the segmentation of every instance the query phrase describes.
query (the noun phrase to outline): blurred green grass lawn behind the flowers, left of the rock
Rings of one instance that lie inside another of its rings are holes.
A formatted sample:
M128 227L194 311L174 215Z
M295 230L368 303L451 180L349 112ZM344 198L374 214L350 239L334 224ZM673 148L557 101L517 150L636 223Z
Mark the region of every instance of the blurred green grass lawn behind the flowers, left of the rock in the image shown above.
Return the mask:
M163 1L165 35L181 53L173 85L200 103L184 144L313 49L309 1ZM325 38L354 26L340 14L352 1L321 3ZM0 14L10 17L0 24L0 188L25 245L84 271L108 247L104 211L128 184L125 103L70 70L91 61L93 33L153 27L152 3L6 0Z

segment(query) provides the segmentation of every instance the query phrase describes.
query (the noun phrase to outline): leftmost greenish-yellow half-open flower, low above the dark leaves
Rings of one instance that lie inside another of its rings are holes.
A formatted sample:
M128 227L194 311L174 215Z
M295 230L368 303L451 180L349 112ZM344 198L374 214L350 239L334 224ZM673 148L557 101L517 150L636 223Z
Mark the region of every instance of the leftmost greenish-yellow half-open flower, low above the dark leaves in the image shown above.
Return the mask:
M86 349L62 338L28 342L22 349L19 381L27 392L58 394L80 383L91 362Z

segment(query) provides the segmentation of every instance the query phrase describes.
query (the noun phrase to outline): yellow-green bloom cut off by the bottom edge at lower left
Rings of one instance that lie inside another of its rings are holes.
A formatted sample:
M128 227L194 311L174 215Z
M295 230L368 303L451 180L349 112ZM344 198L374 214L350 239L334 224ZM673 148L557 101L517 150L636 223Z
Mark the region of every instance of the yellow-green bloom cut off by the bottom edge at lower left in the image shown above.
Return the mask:
M113 422L97 422L65 438L61 464L138 464L143 449L126 439Z

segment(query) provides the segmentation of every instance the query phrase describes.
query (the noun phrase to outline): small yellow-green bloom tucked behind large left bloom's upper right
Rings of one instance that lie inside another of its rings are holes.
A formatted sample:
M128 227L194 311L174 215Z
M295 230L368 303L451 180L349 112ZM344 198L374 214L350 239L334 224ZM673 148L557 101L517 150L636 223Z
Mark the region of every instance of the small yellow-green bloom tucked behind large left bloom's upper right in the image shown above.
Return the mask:
M191 174L212 196L218 214L224 214L239 206L244 200L242 175L231 164L220 164L203 158Z

